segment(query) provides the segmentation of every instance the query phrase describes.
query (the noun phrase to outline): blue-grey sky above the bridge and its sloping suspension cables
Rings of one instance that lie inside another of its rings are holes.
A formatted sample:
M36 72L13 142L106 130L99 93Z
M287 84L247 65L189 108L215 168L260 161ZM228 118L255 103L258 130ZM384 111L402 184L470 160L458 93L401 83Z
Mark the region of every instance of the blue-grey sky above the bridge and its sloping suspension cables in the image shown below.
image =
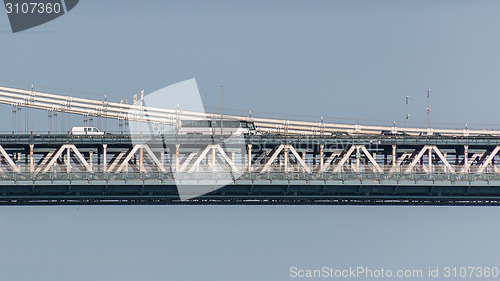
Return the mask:
M425 126L430 88L435 127L497 128L499 7L498 1L82 0L63 17L18 34L0 13L0 83L119 101L194 77L209 107L220 107L224 84L226 112L399 126L407 95L410 122ZM11 119L10 108L1 107Z

